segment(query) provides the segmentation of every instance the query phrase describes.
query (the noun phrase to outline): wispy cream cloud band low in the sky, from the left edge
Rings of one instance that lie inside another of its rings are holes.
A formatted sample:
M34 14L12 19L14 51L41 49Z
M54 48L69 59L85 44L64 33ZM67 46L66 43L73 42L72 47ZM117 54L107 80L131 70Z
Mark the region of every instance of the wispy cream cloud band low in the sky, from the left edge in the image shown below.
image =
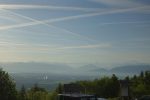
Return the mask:
M24 43L10 43L10 42L0 42L2 47L0 51L14 51L14 52L66 52L70 49L107 49L111 48L112 45L109 43L101 44L87 44L87 45L77 45L77 46L61 46L61 45L45 45L45 44L24 44Z

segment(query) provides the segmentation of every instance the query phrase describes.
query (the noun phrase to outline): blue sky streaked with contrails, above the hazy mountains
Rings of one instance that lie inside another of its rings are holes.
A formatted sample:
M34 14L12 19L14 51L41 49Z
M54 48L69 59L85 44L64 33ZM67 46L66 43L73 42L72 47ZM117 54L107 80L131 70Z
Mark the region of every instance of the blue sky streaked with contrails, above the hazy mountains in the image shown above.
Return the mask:
M150 64L150 1L0 0L0 62Z

